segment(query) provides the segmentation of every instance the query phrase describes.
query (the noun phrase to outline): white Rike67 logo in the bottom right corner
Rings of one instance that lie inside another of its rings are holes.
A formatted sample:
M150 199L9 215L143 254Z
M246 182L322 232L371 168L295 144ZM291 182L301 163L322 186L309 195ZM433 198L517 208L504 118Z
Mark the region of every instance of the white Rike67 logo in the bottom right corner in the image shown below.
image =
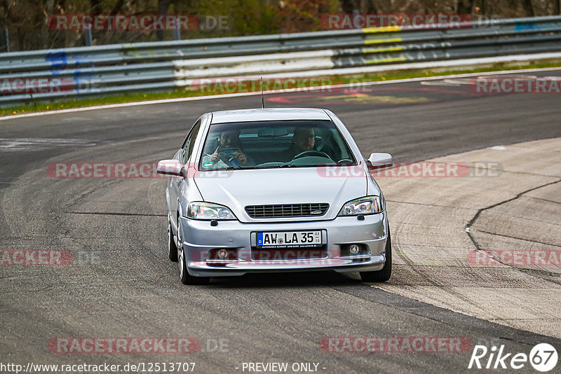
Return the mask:
M529 354L506 352L504 345L497 349L496 345L487 348L475 345L469 360L468 369L511 369L517 370L530 365L542 373L557 366L557 350L553 345L540 343L535 345Z

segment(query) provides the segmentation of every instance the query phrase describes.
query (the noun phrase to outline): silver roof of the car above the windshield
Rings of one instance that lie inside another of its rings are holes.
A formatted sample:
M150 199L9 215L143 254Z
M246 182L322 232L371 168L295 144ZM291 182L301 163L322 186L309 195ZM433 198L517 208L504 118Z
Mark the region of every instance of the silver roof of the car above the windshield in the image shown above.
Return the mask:
M323 109L317 108L266 108L214 111L212 122L251 122L257 120L331 120Z

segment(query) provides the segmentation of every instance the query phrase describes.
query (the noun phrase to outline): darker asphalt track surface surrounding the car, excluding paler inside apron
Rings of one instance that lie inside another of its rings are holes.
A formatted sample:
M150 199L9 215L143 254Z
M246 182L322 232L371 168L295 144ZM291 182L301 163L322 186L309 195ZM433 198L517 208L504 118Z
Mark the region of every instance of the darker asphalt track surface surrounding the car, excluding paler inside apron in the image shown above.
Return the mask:
M421 83L266 96L269 107L330 109L363 154L389 152L399 161L561 137L559 103L559 94L475 95L465 85ZM180 361L196 362L199 373L243 373L244 362L274 361L318 363L322 373L450 373L470 371L471 351L330 353L320 341L456 337L504 344L508 352L528 353L539 342L559 350L559 339L397 296L352 275L251 275L182 286L165 256L162 179L54 179L46 172L53 162L169 158L201 113L259 104L257 96L209 99L0 122L0 249L67 250L76 259L0 266L2 363ZM192 337L202 347L192 354L51 352L49 341L62 337ZM221 349L213 349L217 340ZM535 372L529 365L518 371Z

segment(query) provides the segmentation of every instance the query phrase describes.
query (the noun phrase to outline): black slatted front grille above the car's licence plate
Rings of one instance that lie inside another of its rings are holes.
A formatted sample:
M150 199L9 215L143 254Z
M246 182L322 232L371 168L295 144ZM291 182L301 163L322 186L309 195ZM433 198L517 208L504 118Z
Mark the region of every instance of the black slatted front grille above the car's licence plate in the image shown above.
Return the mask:
M245 212L251 218L318 217L323 216L329 204L316 202L309 204L248 205Z

